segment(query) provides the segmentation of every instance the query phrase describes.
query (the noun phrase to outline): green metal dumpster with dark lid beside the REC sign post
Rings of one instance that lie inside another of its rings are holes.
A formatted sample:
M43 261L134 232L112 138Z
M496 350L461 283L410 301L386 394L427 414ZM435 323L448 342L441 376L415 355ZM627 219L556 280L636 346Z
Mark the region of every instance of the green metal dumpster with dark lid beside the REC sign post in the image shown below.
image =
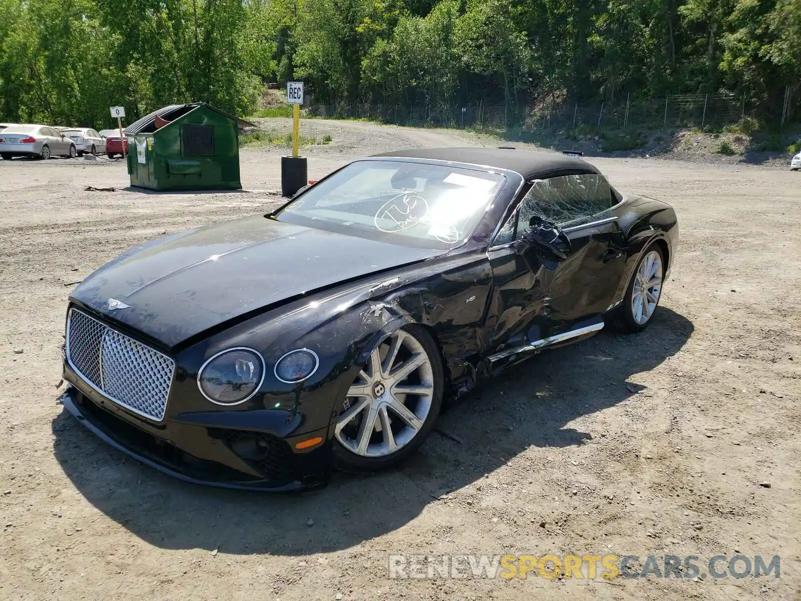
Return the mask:
M239 124L206 103L163 107L125 128L131 186L239 189Z

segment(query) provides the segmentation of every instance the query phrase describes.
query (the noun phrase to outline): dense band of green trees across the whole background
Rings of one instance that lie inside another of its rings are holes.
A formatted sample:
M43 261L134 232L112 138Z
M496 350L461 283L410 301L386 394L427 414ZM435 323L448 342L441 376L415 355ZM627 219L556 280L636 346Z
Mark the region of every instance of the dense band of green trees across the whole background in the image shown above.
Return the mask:
M746 92L801 80L799 0L0 0L0 119L101 127L264 83L453 106ZM797 95L796 95L797 96ZM772 108L771 108L772 107Z

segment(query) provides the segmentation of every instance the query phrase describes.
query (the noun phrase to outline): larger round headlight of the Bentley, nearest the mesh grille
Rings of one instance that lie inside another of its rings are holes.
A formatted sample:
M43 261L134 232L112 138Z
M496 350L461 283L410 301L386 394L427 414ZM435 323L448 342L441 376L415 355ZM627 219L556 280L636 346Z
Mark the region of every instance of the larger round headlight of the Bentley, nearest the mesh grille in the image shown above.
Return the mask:
M203 396L218 405L236 405L256 394L264 379L264 359L253 349L217 353L198 372Z

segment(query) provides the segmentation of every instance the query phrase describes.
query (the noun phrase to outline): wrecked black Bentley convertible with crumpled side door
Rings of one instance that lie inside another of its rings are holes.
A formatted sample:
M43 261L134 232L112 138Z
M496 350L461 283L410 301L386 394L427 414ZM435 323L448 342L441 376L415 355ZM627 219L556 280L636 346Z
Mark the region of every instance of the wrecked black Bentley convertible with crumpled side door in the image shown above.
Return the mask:
M131 249L66 314L63 404L191 482L320 486L413 453L444 397L605 325L637 332L667 204L558 154L356 160L267 215Z

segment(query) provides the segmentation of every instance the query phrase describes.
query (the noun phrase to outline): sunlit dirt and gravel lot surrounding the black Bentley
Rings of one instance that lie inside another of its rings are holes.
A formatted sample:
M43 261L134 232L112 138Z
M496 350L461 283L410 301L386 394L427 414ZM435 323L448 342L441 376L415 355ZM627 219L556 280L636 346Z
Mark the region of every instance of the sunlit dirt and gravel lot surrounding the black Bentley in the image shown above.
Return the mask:
M481 141L315 128L333 142L307 149L310 177ZM126 189L105 157L0 161L0 599L801 599L801 174L784 168L594 160L678 213L654 322L511 369L399 470L291 496L208 489L75 422L57 402L74 283L155 236L271 208L284 152L243 151L250 192L227 194ZM548 553L698 555L702 574L713 555L780 555L781 577L388 577L394 554Z

